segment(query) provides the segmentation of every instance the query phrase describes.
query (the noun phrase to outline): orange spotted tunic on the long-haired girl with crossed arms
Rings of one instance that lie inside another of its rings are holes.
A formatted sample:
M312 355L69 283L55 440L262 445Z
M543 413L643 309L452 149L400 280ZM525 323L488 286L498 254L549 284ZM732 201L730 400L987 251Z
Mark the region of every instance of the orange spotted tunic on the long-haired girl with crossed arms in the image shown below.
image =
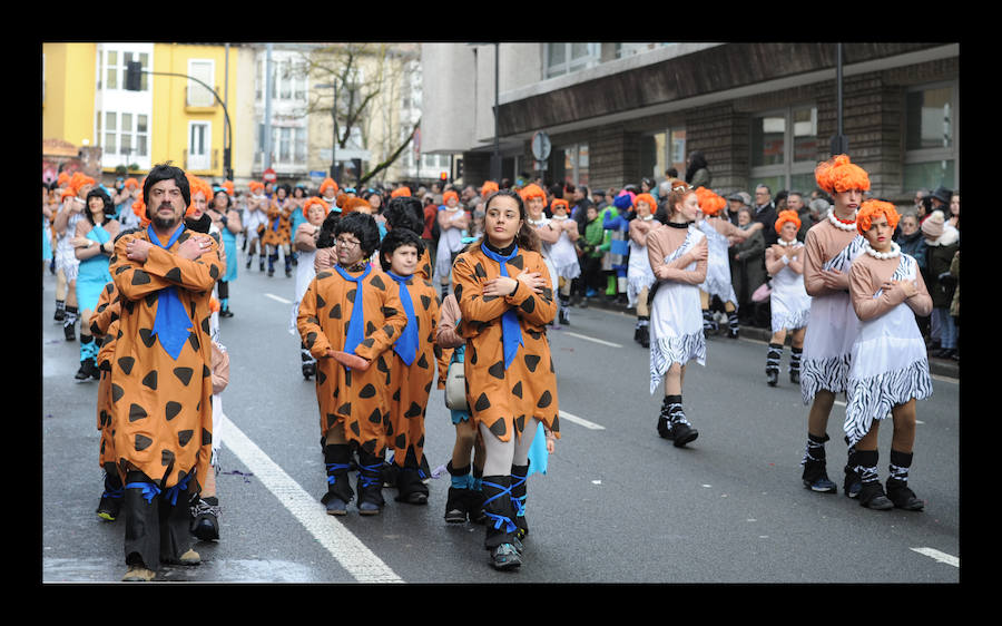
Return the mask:
M470 414L485 424L501 441L521 433L525 421L537 418L560 437L557 374L550 356L547 324L557 314L550 274L542 256L522 250L507 264L508 275L539 272L547 281L536 294L521 282L514 295L484 296L483 283L501 275L500 266L480 246L463 252L453 265L453 292L462 313L462 336L466 340L466 402ZM504 369L501 316L509 309L518 314L524 345Z

